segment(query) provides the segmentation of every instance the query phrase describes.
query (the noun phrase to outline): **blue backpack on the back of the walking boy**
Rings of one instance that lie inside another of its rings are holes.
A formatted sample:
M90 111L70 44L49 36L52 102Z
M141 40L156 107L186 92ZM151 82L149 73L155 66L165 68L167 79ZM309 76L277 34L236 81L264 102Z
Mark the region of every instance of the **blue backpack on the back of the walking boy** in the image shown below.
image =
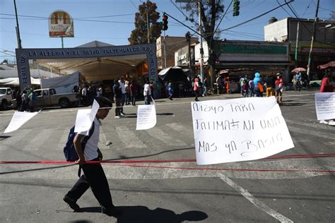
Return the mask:
M88 135L86 135L83 138L83 141L81 142L81 148L83 150L85 149L85 145L86 145L87 141L93 135L93 131L94 131L94 121L92 123L92 126L90 127L90 133ZM63 150L66 161L74 162L74 161L79 159L78 154L76 152L76 149L74 148L74 137L76 135L77 135L77 133L74 132L74 126L72 126L72 128L70 129L70 132L69 132L69 136L68 136L67 141L66 141L66 145L65 145L64 150Z

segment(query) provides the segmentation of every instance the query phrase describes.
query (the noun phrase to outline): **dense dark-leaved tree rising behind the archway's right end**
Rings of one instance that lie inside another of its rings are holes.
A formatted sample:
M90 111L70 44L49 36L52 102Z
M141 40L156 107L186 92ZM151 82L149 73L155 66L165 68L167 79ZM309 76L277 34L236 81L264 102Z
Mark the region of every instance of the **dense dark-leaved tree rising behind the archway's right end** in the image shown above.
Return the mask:
M156 11L157 6L151 1L143 2L139 5L139 12L135 14L135 29L131 31L128 38L129 44L146 44L148 43L148 23L149 20L149 40L155 43L162 32L162 23L157 20L160 18L160 13Z

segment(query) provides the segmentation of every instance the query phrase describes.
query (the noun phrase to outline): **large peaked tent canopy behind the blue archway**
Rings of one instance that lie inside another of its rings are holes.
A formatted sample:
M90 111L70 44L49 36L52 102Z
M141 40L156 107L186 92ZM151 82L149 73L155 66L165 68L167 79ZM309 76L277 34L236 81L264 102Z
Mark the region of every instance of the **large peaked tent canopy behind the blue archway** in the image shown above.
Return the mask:
M78 47L108 47L104 42L93 41ZM146 61L146 54L126 56L86 57L72 59L37 59L40 66L45 66L61 74L67 75L76 71L86 81L102 81L119 78L126 73L135 73L136 66Z

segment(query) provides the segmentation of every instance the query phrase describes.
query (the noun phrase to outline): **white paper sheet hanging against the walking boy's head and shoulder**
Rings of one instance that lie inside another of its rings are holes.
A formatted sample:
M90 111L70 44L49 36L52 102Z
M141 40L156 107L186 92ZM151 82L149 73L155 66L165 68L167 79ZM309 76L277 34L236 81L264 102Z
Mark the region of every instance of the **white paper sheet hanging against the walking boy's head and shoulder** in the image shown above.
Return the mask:
M96 100L93 101L92 109L81 109L78 110L76 116L76 124L74 127L74 132L84 132L90 129L94 121L95 115L99 109L99 104Z

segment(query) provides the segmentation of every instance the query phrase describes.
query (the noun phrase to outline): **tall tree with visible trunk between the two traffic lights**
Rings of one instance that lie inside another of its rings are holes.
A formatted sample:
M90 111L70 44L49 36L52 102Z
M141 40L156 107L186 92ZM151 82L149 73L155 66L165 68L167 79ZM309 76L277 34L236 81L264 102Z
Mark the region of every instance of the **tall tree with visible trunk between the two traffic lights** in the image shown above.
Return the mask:
M215 66L217 56L216 52L214 52L214 39L218 38L216 22L221 19L224 6L221 0L200 0L199 3L187 3L183 8L189 12L189 20L194 23L194 18L198 18L198 4L200 4L202 32L208 45L208 64Z

